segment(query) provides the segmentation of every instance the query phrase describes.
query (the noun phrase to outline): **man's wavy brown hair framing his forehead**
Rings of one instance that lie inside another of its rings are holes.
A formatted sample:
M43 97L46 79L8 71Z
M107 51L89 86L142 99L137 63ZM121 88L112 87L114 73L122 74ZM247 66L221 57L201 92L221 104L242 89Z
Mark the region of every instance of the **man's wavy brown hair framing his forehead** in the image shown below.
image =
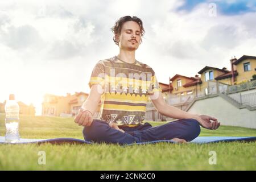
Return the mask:
M113 41L115 44L117 44L117 46L118 46L118 40L115 39L115 35L118 35L118 36L120 35L123 23L128 22L128 21L134 21L134 22L138 23L139 26L141 27L141 36L143 36L145 34L145 30L144 30L143 23L142 23L141 19L139 19L137 16L133 16L133 17L123 16L123 17L119 18L117 20L117 22L115 22L115 25L111 28L111 31L114 33ZM142 39L141 39L141 41L142 41Z

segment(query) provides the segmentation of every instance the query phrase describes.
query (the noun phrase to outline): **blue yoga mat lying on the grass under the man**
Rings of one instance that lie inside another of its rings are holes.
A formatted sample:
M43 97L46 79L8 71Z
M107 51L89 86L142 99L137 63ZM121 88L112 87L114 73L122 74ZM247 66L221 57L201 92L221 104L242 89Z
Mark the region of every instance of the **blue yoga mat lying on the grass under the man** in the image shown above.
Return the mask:
M245 141L251 142L255 141L256 137L197 137L191 142L188 143L216 143L216 142L234 142L234 141ZM151 142L141 142L141 143L131 143L126 144L127 146L131 146L134 144L154 144L154 143L176 143L172 140L155 140ZM5 137L0 137L0 144L5 143ZM76 139L76 138L52 138L52 139L20 139L19 143L12 144L28 144L28 143L51 143L51 144L63 144L63 143L71 143L71 144L93 144L92 142Z

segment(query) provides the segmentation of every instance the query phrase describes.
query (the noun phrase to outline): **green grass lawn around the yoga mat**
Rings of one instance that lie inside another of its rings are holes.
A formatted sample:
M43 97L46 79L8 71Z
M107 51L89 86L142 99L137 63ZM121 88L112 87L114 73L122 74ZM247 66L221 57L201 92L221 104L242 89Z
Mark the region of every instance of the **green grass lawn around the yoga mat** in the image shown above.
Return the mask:
M0 114L0 136L5 135ZM150 122L162 125L164 122ZM71 137L82 139L82 127L72 118L20 116L22 138ZM201 129L200 136L256 136L255 129L221 126ZM39 151L46 152L46 165L39 165ZM216 151L217 164L210 165L209 151ZM255 170L256 142L210 144L158 143L120 147L115 144L0 144L0 170Z

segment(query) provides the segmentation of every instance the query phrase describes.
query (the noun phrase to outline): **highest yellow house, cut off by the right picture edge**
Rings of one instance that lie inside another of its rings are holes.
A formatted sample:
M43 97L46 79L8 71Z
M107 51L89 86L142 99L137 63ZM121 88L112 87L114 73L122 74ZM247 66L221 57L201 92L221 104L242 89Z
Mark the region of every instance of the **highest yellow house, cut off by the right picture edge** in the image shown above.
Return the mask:
M233 59L233 67L236 67L238 75L234 84L240 84L244 81L251 81L256 74L256 57L243 55L240 59Z

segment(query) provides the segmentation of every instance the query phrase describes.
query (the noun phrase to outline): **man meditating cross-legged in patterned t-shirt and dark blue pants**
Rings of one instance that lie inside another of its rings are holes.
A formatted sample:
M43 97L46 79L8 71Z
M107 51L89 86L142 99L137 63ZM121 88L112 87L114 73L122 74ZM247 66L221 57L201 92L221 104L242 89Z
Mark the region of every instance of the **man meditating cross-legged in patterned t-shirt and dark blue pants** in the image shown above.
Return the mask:
M89 96L75 118L84 126L85 140L128 144L172 139L185 143L200 134L200 125L210 130L220 126L216 118L187 113L164 102L153 69L135 59L144 34L141 19L123 16L112 31L119 54L98 61L89 81ZM156 127L143 123L148 97L160 114L178 120ZM93 119L100 100L98 119Z

